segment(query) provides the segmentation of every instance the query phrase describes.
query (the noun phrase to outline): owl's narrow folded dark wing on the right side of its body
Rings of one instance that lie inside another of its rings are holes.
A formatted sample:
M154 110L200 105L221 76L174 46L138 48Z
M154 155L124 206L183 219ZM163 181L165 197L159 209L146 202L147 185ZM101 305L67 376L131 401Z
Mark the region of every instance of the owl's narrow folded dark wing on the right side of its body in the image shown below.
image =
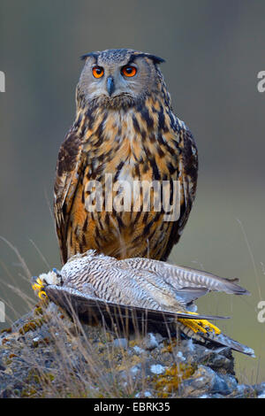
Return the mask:
M173 245L178 243L191 212L197 187L198 151L193 135L185 125L180 129L178 127L176 135L180 136L180 143L182 143L182 151L180 155L178 155L178 166L180 167L179 171L181 172L178 180L180 181L180 193L182 198L179 218L174 222L173 227L171 228L170 238L163 258L161 258L162 260L166 260L169 257Z

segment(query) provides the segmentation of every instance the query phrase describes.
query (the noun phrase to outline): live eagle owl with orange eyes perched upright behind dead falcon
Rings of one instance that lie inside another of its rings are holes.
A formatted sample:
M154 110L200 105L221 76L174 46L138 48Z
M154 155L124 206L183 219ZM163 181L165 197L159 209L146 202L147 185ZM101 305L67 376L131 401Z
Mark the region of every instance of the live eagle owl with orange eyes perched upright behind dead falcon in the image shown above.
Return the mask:
M193 135L172 112L163 59L129 49L82 58L76 119L57 159L62 262L87 250L165 260L192 208L198 160ZM178 215L167 215L177 204Z

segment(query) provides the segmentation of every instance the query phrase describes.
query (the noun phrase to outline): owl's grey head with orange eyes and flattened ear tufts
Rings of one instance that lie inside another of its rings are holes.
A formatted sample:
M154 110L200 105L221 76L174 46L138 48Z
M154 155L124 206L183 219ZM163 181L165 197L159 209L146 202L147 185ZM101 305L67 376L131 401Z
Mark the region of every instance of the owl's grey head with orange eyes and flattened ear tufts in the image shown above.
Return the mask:
M89 105L123 108L157 94L163 58L136 50L103 50L81 57L85 66L77 88L78 100Z

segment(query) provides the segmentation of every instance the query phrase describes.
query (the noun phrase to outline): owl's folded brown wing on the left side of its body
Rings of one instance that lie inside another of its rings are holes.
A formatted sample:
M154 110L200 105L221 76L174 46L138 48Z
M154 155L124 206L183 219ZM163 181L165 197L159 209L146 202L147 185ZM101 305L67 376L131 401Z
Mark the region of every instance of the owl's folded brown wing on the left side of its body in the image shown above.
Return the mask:
M85 159L86 154L82 152L81 139L72 129L66 135L59 150L54 186L54 213L63 264L67 261L66 239L72 203Z

